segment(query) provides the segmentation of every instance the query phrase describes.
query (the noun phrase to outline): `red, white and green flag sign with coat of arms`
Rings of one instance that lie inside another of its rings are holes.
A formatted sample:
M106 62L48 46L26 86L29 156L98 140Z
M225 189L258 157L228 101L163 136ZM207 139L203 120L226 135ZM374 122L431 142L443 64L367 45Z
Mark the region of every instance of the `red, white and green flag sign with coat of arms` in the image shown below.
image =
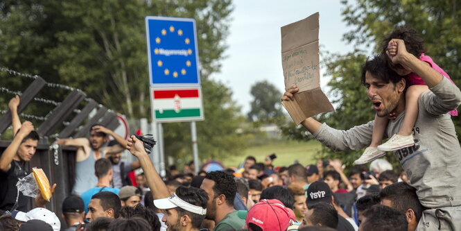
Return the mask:
M156 121L203 120L202 91L200 87L151 87L153 118Z

